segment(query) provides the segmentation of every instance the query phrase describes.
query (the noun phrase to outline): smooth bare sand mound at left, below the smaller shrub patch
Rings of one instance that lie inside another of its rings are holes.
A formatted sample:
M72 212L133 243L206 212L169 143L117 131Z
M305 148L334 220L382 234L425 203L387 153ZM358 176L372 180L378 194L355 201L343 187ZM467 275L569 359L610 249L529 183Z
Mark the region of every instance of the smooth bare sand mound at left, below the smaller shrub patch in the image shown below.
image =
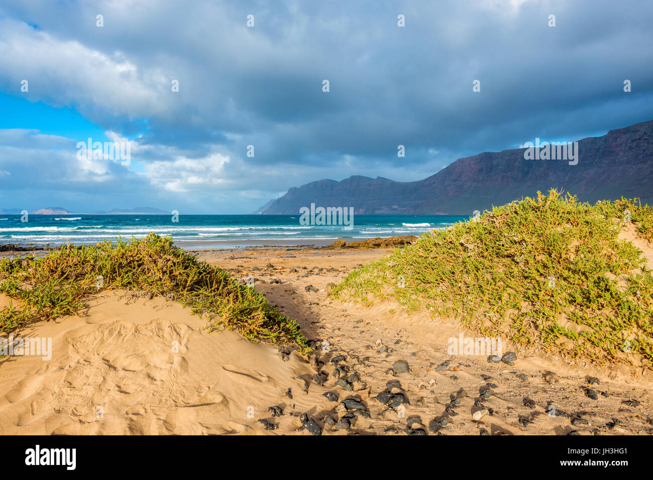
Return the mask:
M328 410L323 387L302 393L296 377L314 372L299 357L205 323L175 303L108 293L86 317L33 325L22 337L52 337L52 360L0 363L3 433L255 434L270 406ZM277 432L301 427L283 418Z

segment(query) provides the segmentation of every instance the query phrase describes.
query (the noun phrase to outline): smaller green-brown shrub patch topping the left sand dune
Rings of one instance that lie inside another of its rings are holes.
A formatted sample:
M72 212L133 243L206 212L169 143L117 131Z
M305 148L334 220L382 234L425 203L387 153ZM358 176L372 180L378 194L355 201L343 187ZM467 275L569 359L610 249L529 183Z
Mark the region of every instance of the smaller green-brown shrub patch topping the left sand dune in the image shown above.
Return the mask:
M222 325L255 341L295 343L299 353L310 353L297 323L264 295L153 233L129 242L64 245L40 258L0 260L0 292L20 304L0 312L0 333L82 314L85 299L118 289L161 295L207 315L211 327Z

